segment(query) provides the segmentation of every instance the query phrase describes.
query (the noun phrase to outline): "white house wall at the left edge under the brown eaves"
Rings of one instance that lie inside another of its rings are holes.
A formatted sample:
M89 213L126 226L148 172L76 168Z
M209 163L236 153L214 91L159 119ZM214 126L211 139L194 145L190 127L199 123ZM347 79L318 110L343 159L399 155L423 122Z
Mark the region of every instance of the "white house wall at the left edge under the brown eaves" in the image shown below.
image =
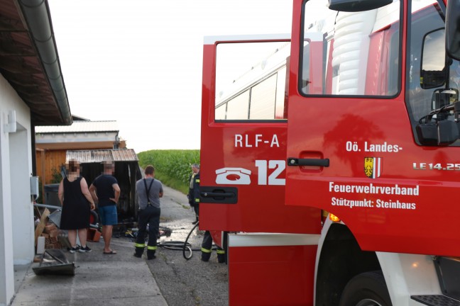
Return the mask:
M9 111L16 112L16 132L6 132ZM0 305L14 295L14 264L34 255L30 109L0 75Z

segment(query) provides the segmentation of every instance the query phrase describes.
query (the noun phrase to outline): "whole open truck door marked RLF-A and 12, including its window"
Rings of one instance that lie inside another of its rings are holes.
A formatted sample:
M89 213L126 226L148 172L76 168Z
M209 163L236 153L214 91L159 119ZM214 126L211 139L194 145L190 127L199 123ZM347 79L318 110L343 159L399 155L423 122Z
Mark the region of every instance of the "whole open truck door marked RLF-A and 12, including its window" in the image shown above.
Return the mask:
M204 39L200 229L319 233L284 205L289 57L290 35Z

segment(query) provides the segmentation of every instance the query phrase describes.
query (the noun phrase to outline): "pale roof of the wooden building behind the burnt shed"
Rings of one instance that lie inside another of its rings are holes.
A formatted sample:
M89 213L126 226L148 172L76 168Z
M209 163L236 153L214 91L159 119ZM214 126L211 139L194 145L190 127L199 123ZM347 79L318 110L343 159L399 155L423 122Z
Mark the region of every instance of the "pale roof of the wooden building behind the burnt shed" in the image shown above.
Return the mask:
M119 132L118 123L110 121L77 121L72 125L47 125L35 127L35 133Z

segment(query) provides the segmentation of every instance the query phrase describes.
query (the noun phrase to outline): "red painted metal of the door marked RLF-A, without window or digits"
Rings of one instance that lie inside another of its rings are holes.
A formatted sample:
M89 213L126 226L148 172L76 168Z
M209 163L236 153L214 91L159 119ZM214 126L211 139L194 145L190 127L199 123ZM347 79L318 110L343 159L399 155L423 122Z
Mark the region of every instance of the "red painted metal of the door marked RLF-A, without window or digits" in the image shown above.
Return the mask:
M238 202L235 204L200 203L200 229L228 232L318 233L321 217L317 208L284 205L285 186L258 184L257 160L277 160L285 163L287 124L285 122L214 122L214 67L217 43L204 45L203 51L202 140L204 141L202 141L200 157L203 161L200 169L200 186L217 186L216 171L235 167L251 171L251 183L219 184L219 186L237 186ZM240 138L241 142L238 141ZM269 169L268 176L271 173L273 170ZM284 171L278 179L285 179Z

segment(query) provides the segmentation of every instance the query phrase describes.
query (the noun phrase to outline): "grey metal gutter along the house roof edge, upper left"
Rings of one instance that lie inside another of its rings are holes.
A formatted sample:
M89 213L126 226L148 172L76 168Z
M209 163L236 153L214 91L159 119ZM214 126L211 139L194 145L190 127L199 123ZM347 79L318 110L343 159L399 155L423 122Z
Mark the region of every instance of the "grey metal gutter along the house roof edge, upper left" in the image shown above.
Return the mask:
M18 0L26 26L31 33L31 38L38 51L38 56L45 69L46 77L57 101L62 123L72 124L67 91L57 55L57 47L51 23L50 8L46 0Z

